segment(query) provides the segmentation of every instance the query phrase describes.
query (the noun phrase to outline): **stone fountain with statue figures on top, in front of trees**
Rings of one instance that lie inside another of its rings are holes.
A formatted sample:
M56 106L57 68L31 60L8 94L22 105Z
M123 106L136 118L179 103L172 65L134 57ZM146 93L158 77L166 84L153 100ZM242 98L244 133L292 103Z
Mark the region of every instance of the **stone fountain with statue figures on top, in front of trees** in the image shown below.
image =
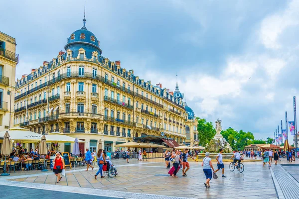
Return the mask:
M221 135L221 120L218 118L216 123L216 135L206 144L205 151L210 153L219 153L219 149L223 149L224 153L233 153L233 149L225 138Z

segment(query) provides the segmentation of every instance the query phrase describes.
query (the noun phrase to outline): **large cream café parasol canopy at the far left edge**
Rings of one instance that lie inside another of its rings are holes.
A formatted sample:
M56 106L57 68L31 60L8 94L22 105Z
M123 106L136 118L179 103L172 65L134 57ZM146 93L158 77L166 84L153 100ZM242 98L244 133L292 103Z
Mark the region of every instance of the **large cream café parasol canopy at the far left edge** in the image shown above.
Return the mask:
M14 127L8 131L0 132L0 139L4 138L4 134L8 132L11 140L22 140L23 143L31 143L32 141L40 141L42 135L29 131L26 128Z

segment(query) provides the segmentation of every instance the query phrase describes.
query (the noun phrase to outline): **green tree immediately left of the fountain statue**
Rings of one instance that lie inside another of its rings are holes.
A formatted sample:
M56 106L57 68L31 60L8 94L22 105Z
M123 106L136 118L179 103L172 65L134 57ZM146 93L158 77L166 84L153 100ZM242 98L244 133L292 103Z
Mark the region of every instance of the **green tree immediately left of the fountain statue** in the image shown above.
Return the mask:
M198 131L198 139L199 144L201 146L205 146L216 134L216 130L213 127L212 122L207 122L206 119L202 119L200 117L196 117L198 121L197 131Z

